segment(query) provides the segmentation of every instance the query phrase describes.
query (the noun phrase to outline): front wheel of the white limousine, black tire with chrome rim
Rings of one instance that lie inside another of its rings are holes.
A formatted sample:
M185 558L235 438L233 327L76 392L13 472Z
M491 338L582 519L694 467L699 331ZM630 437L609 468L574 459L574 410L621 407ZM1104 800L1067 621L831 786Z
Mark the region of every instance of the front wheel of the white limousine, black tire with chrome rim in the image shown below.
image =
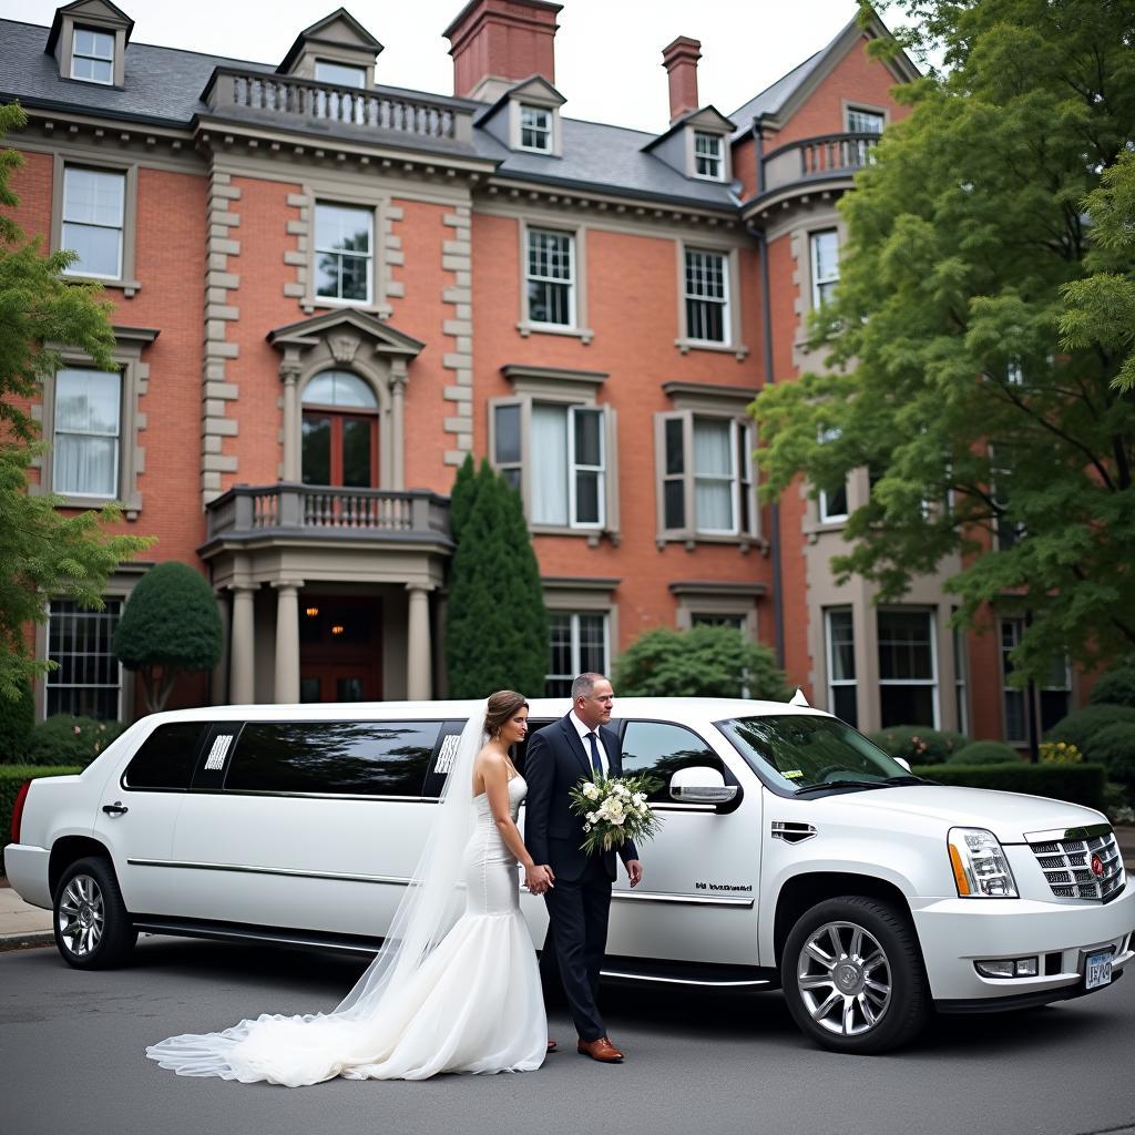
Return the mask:
M897 1049L930 1016L910 918L880 899L850 894L805 911L784 943L781 981L797 1025L832 1052Z

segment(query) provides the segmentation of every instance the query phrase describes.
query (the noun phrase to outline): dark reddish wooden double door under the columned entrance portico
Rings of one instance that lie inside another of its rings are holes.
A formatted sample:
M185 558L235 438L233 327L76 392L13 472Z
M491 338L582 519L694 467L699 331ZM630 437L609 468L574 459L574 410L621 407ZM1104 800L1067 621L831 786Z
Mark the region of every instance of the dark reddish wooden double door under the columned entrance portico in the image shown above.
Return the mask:
M381 697L381 602L302 595L300 700L379 701Z

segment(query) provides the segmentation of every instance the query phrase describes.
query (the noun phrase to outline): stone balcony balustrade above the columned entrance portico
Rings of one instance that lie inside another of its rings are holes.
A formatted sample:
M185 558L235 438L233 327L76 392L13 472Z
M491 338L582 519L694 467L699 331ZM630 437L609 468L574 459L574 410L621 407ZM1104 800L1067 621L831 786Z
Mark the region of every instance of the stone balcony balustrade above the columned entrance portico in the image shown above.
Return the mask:
M449 502L426 489L238 485L208 505L208 539L449 540Z

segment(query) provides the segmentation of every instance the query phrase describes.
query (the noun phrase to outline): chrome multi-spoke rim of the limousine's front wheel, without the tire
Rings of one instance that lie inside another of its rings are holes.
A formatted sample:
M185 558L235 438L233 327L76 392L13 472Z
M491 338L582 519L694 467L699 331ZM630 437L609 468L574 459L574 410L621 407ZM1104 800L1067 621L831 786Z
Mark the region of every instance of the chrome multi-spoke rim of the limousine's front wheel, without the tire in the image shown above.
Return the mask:
M891 966L878 940L851 922L827 922L805 941L797 986L813 1022L836 1036L871 1032L891 1003Z

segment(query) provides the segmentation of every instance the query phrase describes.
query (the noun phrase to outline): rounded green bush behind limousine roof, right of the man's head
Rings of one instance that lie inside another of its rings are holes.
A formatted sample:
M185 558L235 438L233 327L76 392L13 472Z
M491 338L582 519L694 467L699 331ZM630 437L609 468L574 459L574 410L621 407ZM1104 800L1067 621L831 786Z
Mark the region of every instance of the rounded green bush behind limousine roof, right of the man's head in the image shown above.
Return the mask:
M614 686L622 697L787 701L791 696L772 650L732 627L645 631L615 664Z

